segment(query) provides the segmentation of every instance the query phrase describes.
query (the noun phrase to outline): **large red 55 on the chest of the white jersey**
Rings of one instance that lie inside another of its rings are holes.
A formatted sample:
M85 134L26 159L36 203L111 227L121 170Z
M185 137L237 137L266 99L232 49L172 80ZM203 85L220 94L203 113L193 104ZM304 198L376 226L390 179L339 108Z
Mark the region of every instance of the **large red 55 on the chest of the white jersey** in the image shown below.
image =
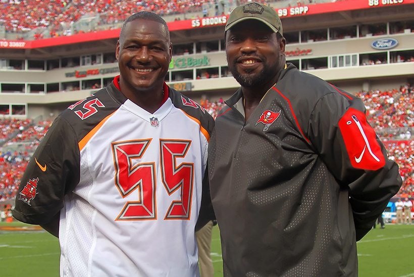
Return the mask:
M145 154L152 139L112 143L115 185L122 197L138 191L137 201L127 201L116 220L157 219L157 178L155 162L133 164ZM189 219L194 183L194 163L177 164L191 145L189 140L160 139L161 180L169 195L181 189L180 200L172 201L164 219Z

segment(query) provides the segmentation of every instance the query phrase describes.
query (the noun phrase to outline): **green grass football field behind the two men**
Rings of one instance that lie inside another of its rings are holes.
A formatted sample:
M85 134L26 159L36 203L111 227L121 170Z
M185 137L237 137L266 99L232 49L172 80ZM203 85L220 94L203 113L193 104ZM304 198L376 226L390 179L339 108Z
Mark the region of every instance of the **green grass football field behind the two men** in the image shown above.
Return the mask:
M21 226L19 223L0 227ZM359 276L414 276L414 225L387 225L357 243ZM42 231L0 231L0 276L59 276L58 240ZM215 276L223 276L218 227L213 229Z

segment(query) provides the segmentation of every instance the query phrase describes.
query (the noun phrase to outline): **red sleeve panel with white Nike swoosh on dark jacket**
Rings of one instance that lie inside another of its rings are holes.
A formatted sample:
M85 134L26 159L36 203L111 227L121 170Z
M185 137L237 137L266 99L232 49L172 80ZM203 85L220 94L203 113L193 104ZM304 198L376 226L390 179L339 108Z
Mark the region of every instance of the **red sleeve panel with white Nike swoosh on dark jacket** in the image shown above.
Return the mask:
M339 129L352 167L378 170L385 165L385 158L375 131L367 123L363 112L349 108L339 121Z

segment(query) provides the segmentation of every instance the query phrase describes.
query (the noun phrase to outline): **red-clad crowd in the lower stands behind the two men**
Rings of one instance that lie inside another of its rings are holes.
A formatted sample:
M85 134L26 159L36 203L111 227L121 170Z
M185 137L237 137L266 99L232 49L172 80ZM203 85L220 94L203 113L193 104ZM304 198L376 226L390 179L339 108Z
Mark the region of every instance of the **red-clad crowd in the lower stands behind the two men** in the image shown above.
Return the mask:
M414 87L406 84L396 89L372 90L357 95L364 100L368 120L381 136L388 155L399 164L403 186L398 194L414 197L414 139L411 136ZM224 100L211 101L202 97L200 104L216 117ZM50 120L34 124L30 120L0 119L0 201L16 196L19 179L30 155L50 124ZM13 146L16 146L15 150L8 150Z

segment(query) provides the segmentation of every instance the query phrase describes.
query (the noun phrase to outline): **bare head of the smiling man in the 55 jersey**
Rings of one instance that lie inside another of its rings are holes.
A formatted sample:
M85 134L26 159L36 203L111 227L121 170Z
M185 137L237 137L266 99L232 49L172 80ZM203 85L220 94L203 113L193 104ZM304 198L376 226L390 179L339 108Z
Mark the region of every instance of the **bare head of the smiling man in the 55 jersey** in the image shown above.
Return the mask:
M117 43L122 92L160 90L171 62L172 46L165 26L148 19L128 22Z

